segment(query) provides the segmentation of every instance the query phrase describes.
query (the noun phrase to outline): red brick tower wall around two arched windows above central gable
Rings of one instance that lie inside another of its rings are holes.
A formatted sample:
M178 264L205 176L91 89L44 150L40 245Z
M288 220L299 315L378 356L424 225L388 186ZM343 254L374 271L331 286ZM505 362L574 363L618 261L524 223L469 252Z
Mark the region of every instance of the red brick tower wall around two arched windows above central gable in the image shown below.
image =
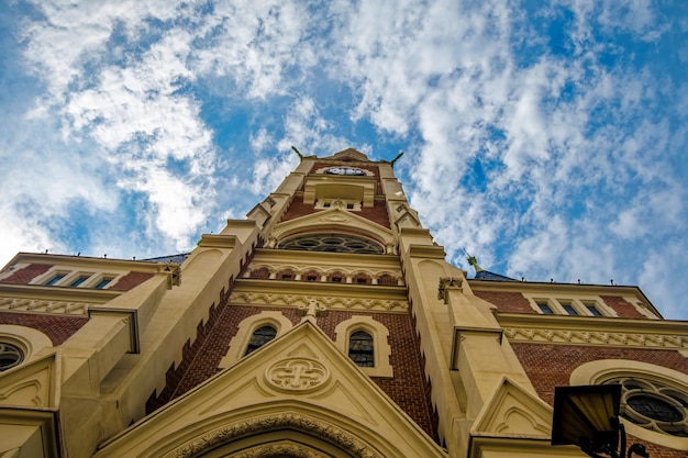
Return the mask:
M199 337L196 343L185 346L184 360L179 367L170 367L167 373L168 386L159 396L156 398L153 393L146 403L146 412L152 412L214 376L219 370L220 360L229 349L232 337L238 331L238 324L244 319L263 311L280 311L293 325L301 321L296 309L243 305L217 308L211 313L211 319L206 327L199 327ZM406 314L330 311L328 316L318 319L318 325L334 340L336 325L351 319L354 314L373 316L389 329L389 345L392 348L390 362L395 370L395 377L371 377L371 380L423 431L436 439L436 422L433 421L433 413L428 405L430 387L423 377L422 359L411 319ZM436 416L436 414L434 415Z

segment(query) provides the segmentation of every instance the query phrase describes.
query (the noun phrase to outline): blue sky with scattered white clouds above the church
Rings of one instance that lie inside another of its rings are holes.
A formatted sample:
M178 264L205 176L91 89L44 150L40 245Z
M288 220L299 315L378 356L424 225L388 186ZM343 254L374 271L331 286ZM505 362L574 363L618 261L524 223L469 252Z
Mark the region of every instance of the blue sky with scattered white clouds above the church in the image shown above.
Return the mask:
M0 264L185 252L290 145L404 150L453 262L688 319L688 2L544 3L9 0Z

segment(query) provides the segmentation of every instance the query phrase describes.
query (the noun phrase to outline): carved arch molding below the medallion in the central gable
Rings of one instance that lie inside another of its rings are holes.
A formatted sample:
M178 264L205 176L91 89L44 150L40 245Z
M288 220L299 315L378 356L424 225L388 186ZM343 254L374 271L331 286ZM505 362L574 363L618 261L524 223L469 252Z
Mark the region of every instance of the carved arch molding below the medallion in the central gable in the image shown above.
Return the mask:
M167 453L164 455L164 458L191 458L221 447L222 445L230 444L247 435L255 436L257 434L287 428L296 429L317 438L322 438L330 444L334 444L342 450L345 450L352 457L382 458L380 454L358 437L340 428L339 426L326 423L322 420L296 413L258 416L215 428ZM263 453L267 453L267 446L263 448ZM262 455L254 456L260 457ZM278 455L268 454L263 456L274 457ZM247 457L252 457L252 455L248 455ZM310 458L308 455L306 455L306 457ZM315 455L315 457L318 456Z

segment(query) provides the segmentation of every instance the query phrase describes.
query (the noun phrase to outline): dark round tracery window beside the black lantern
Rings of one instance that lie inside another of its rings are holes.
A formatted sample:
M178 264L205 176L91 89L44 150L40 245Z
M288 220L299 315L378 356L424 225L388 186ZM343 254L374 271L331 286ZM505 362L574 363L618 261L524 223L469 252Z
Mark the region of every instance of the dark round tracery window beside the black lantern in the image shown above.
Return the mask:
M621 416L647 429L688 437L688 393L666 383L615 378L606 384L621 384Z

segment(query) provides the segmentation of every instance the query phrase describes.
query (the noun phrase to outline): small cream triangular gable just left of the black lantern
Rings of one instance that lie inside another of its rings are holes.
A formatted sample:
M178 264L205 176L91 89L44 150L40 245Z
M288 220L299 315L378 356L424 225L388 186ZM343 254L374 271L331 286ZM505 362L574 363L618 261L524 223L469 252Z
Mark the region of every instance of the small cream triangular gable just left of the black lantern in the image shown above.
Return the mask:
M552 407L504 377L470 428L471 436L550 438Z

